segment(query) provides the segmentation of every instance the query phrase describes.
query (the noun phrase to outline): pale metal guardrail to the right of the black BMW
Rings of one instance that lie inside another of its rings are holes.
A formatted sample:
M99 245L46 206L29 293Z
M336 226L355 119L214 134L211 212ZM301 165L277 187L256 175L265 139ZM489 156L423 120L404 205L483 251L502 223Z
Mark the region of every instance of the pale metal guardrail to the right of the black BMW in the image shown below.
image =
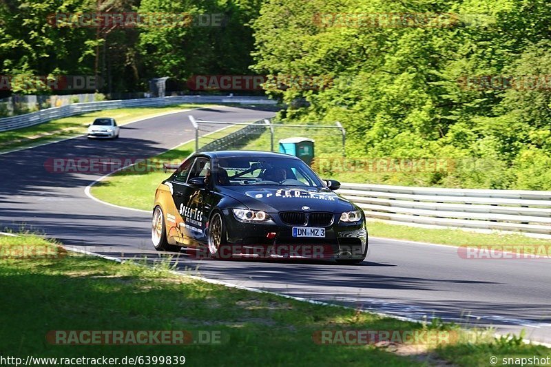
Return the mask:
M551 235L551 191L342 184L368 218Z

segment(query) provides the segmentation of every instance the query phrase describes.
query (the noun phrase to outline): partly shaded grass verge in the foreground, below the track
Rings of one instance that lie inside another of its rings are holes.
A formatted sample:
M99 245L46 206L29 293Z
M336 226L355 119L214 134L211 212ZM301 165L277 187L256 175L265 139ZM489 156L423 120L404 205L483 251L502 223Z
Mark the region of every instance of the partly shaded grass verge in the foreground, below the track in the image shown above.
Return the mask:
M479 331L472 338L472 333L441 322L402 322L209 284L170 273L168 260L151 268L65 253L37 235L0 236L0 249L2 356L185 356L186 364L219 366L422 366L445 359L459 366L486 366L490 355L550 353L522 344L518 337L495 339ZM59 345L46 338L51 331L75 330L189 331L194 341L199 333L221 337L216 344L187 345ZM415 346L313 342L313 335L325 330L438 331L459 337L453 344Z

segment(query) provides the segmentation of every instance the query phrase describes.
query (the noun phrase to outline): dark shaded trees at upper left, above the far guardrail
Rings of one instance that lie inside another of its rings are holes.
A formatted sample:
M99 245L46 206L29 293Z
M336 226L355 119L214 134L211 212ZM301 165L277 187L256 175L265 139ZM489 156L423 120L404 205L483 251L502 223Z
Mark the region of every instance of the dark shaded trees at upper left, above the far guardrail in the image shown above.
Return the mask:
M249 73L253 48L249 23L258 16L261 2L2 0L0 75L98 75L105 81L101 92L138 92L147 90L147 81L158 76L185 81L194 74ZM144 22L136 27L54 27L48 22L48 16L56 13L129 12L161 14L159 19L169 26ZM170 14L182 14L183 21ZM215 26L196 26L191 19L198 14L213 17ZM13 86L14 92L44 92Z

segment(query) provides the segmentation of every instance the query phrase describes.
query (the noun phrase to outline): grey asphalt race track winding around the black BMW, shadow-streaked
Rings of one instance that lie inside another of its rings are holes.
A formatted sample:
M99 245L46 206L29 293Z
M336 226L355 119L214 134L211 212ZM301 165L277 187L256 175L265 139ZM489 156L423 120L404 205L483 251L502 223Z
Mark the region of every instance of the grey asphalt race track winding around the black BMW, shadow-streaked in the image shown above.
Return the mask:
M149 213L88 198L85 187L103 174L50 173L44 163L48 158L155 156L193 138L189 114L236 122L273 112L210 107L125 125L118 140L79 137L0 155L0 228L17 230L24 224L71 247L154 261L159 253L151 244ZM525 328L528 338L551 343L550 260L465 260L455 247L378 238L369 244L368 260L357 266L200 261L182 253L178 269L199 266L209 279L415 319L492 325L499 333Z

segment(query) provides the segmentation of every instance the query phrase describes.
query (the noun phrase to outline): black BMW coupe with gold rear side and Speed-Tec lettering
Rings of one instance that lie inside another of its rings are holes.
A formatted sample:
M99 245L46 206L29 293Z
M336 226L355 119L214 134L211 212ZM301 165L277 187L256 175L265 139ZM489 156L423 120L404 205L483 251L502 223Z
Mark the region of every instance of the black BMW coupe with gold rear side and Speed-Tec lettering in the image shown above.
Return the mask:
M157 188L152 241L199 258L362 262L363 211L302 160L265 151L194 154Z

